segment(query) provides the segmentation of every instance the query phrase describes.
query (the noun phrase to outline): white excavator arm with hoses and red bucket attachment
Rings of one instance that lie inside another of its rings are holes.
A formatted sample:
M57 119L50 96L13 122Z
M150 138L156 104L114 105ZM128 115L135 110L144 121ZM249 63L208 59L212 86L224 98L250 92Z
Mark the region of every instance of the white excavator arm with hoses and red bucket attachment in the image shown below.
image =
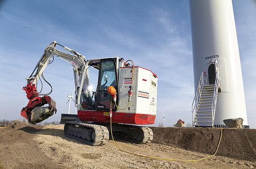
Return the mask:
M74 55L57 50L56 45L63 47L65 50L71 52ZM29 102L27 106L22 108L20 114L22 117L26 118L29 123L36 124L42 122L52 116L54 112L56 113L57 111L56 102L48 95L40 97L40 93L36 89L37 80L43 74L45 68L50 63L50 61L53 60L54 55L72 64L76 89L78 89L81 84L81 77L83 75L84 66L86 64L85 57L68 47L60 45L56 41L50 43L45 48L44 54L36 64L36 67L32 74L28 78L26 78L27 85L23 87L23 90L25 90ZM44 106L46 104L48 104L48 106Z

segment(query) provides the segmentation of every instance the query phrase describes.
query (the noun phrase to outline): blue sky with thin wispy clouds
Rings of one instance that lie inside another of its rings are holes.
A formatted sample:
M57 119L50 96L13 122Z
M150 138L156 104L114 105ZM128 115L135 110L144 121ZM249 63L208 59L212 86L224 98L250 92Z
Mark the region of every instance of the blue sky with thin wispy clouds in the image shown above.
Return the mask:
M56 40L87 59L132 59L158 76L157 116L165 126L192 123L194 98L188 0L5 0L0 1L0 119L21 119L28 104L22 87L44 48ZM256 1L233 0L248 125L256 128ZM60 48L61 49L61 48ZM44 71L59 121L68 111L72 66L55 57ZM44 93L49 91L44 84ZM71 112L76 114L72 104Z

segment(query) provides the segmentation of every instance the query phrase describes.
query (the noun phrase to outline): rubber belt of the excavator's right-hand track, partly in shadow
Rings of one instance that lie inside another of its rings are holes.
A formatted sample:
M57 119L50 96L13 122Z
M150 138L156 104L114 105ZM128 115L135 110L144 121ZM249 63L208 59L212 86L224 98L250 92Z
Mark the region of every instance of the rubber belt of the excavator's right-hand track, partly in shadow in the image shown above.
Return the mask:
M149 142L151 142L153 140L153 131L149 127L133 126L133 125L122 125L122 126L125 126L125 127L128 127L128 128L132 128L132 129L139 129L139 130L141 130L142 133L143 133L143 138L140 141L138 141L138 140L136 140L134 138L128 138L125 135L120 136L120 135L115 135L113 133L113 137L114 138L117 138L117 139L120 139L120 140L131 141L131 142L135 142L135 143L138 143L138 144L149 143Z

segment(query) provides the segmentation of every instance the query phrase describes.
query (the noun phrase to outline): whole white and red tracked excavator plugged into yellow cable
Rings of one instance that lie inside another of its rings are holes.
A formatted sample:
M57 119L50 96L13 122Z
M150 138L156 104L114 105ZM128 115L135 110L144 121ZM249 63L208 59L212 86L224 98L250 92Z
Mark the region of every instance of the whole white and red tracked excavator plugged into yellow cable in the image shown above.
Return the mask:
M70 53L58 50L57 45ZM61 114L65 136L88 145L105 145L110 132L114 138L139 144L152 141L152 130L138 125L155 123L156 74L119 57L86 60L84 55L56 41L45 48L34 71L26 78L23 90L29 102L21 110L22 117L36 124L56 113L51 92L40 94L37 90L37 81L44 79L43 72L54 56L70 63L74 73L77 114Z

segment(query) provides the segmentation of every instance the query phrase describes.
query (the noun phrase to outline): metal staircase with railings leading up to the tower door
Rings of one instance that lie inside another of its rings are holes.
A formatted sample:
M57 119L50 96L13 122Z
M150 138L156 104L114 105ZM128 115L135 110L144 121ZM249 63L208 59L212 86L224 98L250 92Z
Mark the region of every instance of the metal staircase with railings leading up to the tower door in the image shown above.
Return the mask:
M202 72L197 92L192 103L193 126L213 127L218 92L221 91L220 74L216 68L215 84L208 84Z

